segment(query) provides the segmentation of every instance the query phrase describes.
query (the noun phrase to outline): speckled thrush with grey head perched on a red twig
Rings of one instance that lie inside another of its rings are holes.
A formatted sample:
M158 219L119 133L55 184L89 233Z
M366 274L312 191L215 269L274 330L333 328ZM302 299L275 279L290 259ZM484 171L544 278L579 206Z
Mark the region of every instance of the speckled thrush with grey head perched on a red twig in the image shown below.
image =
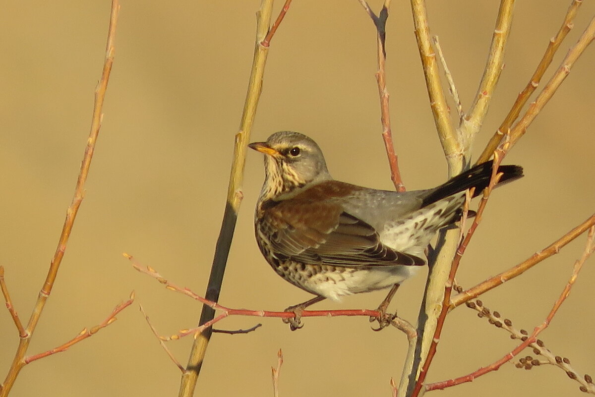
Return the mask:
M465 192L475 188L477 196L488 186L493 166L490 160L438 187L397 192L333 179L318 144L300 133L279 131L248 146L264 154L258 247L278 275L315 295L286 309L295 313L284 319L292 330L301 327L305 307L325 298L391 287L392 298L427 264L434 235L461 219ZM497 172L499 184L523 176L516 165L500 165ZM386 300L378 310L386 310Z

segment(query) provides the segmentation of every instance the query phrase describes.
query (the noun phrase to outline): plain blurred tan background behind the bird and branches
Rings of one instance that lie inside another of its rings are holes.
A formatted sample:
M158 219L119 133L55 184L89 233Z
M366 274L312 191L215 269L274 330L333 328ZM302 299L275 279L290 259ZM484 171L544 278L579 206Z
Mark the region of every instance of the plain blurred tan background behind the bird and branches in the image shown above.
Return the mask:
M166 5L167 3L167 5ZM497 2L430 1L464 106L475 94ZM372 2L375 10L380 1ZM520 1L506 67L475 155L524 87L569 1ZM200 305L165 291L129 266L134 254L162 275L202 293L220 227L252 59L259 1L123 0L104 127L54 292L30 352L52 348L101 322L133 289L163 334L193 326ZM277 5L280 7L280 4ZM585 2L556 65L595 12ZM5 2L0 14L0 264L21 318L45 278L86 142L93 89L101 72L109 1ZM394 140L409 189L439 184L446 165L428 108L409 6L394 2L388 33L388 82ZM357 1L295 1L273 40L252 140L277 130L301 131L324 150L334 177L391 188L380 138L374 80L375 35ZM468 250L459 281L472 285L518 263L593 213L595 100L593 48L507 162L527 177L494 194ZM246 163L245 200L221 303L281 310L309 295L281 281L262 259L252 211L263 178L260 155ZM584 238L483 298L518 327L544 319L568 279ZM595 375L593 260L554 322L542 334L556 354ZM393 305L415 320L425 273ZM319 308L375 307L383 293ZM227 329L258 319L227 319ZM282 348L283 396L388 396L399 377L405 338L374 333L367 319L306 319L299 332L263 319L250 335L215 335L197 395L272 395L270 366ZM0 373L17 334L0 313ZM190 339L170 344L182 363ZM516 342L474 312L449 317L428 380L460 376L510 351ZM531 352L527 352L531 354ZM151 334L137 304L92 339L24 368L12 396L176 395L180 373ZM579 395L554 367L511 364L441 396Z

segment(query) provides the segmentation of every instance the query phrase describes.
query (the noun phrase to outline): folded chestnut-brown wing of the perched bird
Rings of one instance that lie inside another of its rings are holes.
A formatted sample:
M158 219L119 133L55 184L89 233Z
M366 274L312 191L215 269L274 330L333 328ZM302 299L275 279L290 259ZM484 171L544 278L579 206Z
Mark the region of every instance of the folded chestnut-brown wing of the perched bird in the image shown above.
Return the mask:
M268 207L261 227L281 260L347 267L423 265L417 256L382 244L378 233L336 203L290 198Z

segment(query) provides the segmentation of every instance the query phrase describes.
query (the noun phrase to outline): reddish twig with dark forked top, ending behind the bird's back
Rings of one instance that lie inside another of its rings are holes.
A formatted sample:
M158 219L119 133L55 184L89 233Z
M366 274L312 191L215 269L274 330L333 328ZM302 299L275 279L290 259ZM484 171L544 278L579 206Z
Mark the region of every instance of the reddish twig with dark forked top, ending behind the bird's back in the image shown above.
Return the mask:
M359 0L360 4L368 12L369 17L374 22L377 33L377 53L378 53L378 71L376 72L376 81L378 83L378 94L380 95L380 120L382 122L382 138L384 148L389 159L390 178L393 181L394 188L397 191L405 191L403 179L399 171L399 160L394 152L393 135L390 128L390 107L389 90L386 88L386 21L389 17L390 0L384 1L380 14L374 14L365 0Z

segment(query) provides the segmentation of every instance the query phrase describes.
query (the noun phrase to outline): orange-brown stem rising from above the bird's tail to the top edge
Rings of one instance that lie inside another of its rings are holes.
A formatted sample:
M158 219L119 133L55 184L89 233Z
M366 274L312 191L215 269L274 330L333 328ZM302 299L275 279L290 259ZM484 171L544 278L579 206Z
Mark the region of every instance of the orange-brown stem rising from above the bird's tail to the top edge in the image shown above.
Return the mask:
M566 11L566 15L562 22L562 26L558 30L558 33L555 37L550 39L546 52L543 54L543 58L537 65L533 76L531 76L527 86L519 93L518 97L516 98L515 103L513 103L511 110L506 115L506 118L500 124L500 127L494 133L494 136L491 137L490 141L488 142L486 148L483 150L483 153L477 159L477 163L486 162L502 140L502 136L506 134L506 132L511 128L512 123L518 118L519 114L521 114L521 110L527 100L531 97L531 94L537 89L541 77L546 72L547 68L550 64L552 64L553 57L555 53L560 48L560 44L562 44L563 40L565 39L568 32L574 27L574 17L577 15L578 8L583 4L582 0L572 0L570 7L568 7L568 11Z

